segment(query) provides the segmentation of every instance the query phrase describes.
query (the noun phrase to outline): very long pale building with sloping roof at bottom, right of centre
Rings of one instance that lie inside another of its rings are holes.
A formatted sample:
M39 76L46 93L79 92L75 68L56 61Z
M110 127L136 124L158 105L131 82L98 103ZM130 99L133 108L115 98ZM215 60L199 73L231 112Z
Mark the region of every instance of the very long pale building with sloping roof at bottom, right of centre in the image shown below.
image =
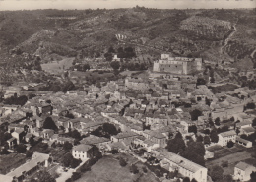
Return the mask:
M207 168L196 164L172 152L160 152L160 166L169 170L178 170L183 176L193 178L198 182L207 182Z

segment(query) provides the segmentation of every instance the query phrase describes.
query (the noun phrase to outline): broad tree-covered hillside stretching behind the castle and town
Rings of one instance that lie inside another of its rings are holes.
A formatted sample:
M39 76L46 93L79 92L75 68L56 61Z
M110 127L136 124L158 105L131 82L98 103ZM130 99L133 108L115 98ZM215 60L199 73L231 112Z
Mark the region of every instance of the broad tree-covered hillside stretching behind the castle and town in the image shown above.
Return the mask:
M255 24L255 9L5 11L0 12L0 53L96 58L123 42L140 47L137 56L156 51L210 61L255 62Z

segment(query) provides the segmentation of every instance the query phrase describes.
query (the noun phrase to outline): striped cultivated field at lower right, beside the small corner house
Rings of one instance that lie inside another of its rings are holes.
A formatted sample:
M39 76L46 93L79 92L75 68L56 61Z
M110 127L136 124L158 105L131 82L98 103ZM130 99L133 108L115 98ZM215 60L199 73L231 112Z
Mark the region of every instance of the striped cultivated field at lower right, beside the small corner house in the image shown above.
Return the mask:
M240 146L234 146L232 148L213 146L207 150L214 152L215 157L206 161L206 167L211 168L214 165L221 165L224 161L228 162L228 167L224 167L225 174L233 174L234 166L239 161L244 161L251 158L251 154L246 152L245 148Z

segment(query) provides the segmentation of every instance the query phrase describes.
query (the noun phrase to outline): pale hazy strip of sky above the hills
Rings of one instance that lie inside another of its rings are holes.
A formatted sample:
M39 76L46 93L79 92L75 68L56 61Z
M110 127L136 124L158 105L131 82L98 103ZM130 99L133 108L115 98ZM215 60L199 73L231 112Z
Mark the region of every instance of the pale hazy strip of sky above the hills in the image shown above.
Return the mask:
M256 0L0 0L0 10L131 8L255 8Z

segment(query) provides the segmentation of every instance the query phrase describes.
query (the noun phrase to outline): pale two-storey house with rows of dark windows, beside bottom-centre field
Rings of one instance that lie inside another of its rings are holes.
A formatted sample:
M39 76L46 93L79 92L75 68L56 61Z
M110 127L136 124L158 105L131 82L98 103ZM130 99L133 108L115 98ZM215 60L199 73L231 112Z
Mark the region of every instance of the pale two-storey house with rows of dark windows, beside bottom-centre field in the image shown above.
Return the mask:
M74 158L87 160L93 157L93 147L85 144L74 146L72 149L72 155Z

